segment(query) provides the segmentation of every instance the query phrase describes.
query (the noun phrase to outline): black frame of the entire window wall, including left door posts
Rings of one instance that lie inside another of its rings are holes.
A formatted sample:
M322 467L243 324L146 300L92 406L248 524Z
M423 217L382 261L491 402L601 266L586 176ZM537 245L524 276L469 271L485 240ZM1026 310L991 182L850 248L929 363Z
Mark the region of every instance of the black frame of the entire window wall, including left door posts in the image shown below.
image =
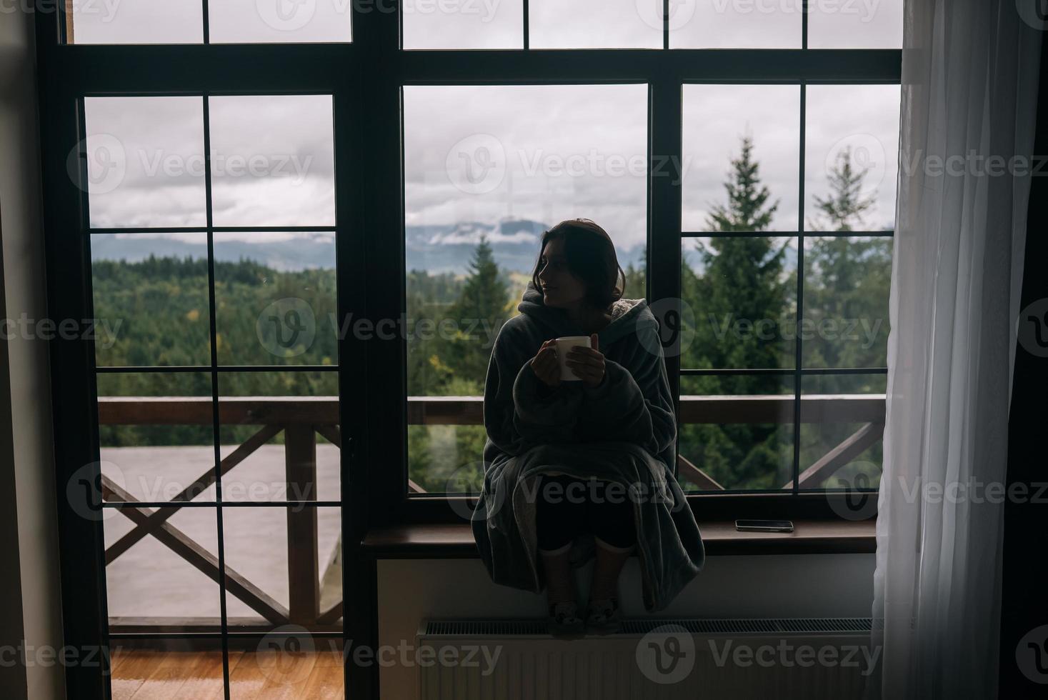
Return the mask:
M202 2L206 41L208 5ZM537 50L528 48L525 0L523 48L403 50L400 13L380 9L398 4L354 2L353 41L315 44L66 44L65 3L37 12L50 318L90 318L88 247L85 236L70 233L83 233L87 224L86 193L67 166L83 138L79 105L88 95L331 94L343 327L348 314L376 323L406 310L405 85L646 83L649 158L679 158L685 83L898 84L901 75L901 49L808 49L807 14L796 49L670 49L667 25L661 49ZM802 99L802 118L804 108ZM803 141L801 159L803 168ZM649 174L647 199L648 299L679 299L686 233L679 181ZM667 308L672 310L672 301ZM94 348L83 337L56 338L49 351L65 642L87 649L107 642L102 527L85 526L71 510L65 483L79 467L99 460ZM374 562L361 547L369 529L463 521L441 498L408 497L406 340L354 343L347 335L340 338L339 356L343 590L347 600L365 601L374 599ZM679 397L680 366L673 353L668 353L667 369ZM689 502L702 520L836 518L834 498L796 491L704 494L690 496ZM347 607L345 638L376 638L375 615L363 603L356 612ZM347 695L370 697L377 688L377 668L352 669L347 664ZM108 683L97 668L72 665L66 678L70 698L107 697Z

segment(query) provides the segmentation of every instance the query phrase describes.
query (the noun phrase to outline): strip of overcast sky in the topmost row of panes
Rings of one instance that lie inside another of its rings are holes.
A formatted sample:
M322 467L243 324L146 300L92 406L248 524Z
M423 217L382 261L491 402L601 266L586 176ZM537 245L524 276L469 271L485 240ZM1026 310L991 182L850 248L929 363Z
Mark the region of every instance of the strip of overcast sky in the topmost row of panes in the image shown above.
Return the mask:
M75 0L79 43L198 43L200 0ZM387 6L375 2L367 6ZM350 41L350 0L210 0L211 41ZM531 0L532 48L661 48L662 0ZM898 48L902 0L810 0L811 48ZM521 48L522 0L403 0L405 48ZM800 48L802 0L671 0L673 48Z

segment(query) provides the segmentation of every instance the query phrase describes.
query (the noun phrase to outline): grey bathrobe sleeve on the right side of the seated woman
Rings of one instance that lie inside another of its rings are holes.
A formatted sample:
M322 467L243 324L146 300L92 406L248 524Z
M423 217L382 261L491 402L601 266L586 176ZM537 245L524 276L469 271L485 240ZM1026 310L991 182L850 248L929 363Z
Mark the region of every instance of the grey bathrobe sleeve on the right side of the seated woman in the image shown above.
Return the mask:
M581 420L590 432L615 435L658 456L677 439L670 380L655 326L640 327L618 362L605 357L597 387L583 388Z

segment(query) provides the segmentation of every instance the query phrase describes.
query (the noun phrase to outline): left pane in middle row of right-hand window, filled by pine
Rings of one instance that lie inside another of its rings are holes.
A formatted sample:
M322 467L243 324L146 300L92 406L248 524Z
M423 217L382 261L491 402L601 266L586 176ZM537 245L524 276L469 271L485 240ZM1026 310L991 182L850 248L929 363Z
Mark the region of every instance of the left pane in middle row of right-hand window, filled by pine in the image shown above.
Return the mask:
M681 367L795 366L796 239L683 240Z

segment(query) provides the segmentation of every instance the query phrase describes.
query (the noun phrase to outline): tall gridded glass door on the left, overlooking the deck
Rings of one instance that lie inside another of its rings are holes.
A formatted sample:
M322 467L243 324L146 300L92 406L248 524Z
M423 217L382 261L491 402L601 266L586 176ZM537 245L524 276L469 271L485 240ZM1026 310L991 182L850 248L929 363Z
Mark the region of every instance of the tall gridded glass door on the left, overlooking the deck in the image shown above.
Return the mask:
M114 692L341 695L331 95L82 105Z

